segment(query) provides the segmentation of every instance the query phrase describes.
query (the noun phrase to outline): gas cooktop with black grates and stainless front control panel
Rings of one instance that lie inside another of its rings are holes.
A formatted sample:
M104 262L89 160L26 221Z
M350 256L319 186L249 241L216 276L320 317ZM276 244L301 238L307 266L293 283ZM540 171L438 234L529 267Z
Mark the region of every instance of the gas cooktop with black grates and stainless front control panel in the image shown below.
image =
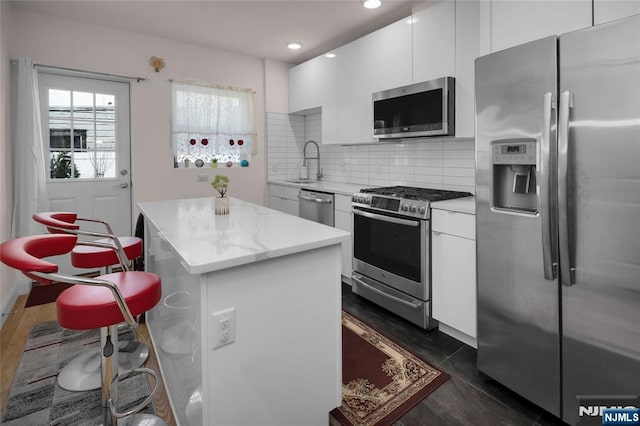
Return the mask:
M471 195L469 192L446 191L443 189L386 186L361 189L360 192L353 194L352 206L418 219L428 219L431 202L470 197Z

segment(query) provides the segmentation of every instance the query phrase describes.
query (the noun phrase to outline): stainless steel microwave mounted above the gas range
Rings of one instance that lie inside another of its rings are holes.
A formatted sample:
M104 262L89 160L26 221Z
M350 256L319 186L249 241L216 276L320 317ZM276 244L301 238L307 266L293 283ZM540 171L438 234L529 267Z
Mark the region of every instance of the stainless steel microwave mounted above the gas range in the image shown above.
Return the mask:
M373 94L373 137L455 134L455 79L442 77Z

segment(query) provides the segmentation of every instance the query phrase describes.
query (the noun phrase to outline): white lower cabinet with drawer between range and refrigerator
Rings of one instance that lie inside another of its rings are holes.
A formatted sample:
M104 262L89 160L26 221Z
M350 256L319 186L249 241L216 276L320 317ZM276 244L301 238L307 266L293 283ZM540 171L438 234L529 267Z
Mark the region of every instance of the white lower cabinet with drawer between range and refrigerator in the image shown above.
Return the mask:
M476 338L475 216L432 210L431 217L432 315L446 328ZM447 330L444 330L447 332Z

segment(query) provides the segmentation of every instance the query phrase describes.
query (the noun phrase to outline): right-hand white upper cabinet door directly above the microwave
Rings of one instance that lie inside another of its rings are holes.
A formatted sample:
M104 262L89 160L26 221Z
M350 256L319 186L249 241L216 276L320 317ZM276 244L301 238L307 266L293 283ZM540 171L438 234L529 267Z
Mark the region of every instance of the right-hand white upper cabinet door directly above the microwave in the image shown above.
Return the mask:
M455 76L456 3L428 2L413 13L413 81Z

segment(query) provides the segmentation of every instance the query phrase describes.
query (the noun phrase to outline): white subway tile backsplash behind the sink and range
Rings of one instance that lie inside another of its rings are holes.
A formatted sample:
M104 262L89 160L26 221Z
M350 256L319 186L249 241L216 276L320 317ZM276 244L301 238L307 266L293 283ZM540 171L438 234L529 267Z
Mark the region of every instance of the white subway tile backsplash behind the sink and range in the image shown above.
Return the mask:
M308 140L321 140L321 113L267 113L269 180L313 178L317 162L302 166ZM320 145L324 180L373 186L410 185L475 193L473 139L419 138L370 145ZM315 147L309 147L315 156Z

